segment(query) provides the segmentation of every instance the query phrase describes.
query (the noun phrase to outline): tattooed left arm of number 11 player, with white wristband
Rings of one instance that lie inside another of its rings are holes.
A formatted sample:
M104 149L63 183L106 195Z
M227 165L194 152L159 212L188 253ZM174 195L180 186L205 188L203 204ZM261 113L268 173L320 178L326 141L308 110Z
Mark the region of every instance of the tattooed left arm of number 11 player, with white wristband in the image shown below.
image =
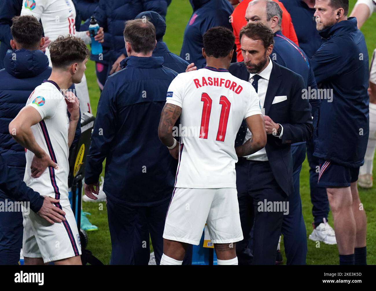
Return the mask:
M158 137L165 146L172 146L174 144L174 137L172 136L172 128L175 125L175 122L182 113L182 108L171 104L166 103L162 109L161 120L159 121L158 126ZM179 154L179 146L176 146L173 149L170 149L170 154L177 158Z

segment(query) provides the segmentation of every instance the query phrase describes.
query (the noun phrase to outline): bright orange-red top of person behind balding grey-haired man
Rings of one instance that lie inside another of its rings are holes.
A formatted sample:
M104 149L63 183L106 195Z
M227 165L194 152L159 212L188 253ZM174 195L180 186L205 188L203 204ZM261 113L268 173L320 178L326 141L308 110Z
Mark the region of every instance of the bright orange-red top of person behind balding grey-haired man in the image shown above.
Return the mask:
M237 1L238 0L232 0L232 1L230 1L230 3L232 5L234 5L234 4L236 4ZM240 29L247 24L247 20L245 19L244 15L246 14L247 7L248 7L248 5L251 1L252 0L241 1L241 3L234 9L234 11L232 13L231 25L232 25L232 29L233 29L233 32L234 32L234 35L235 35L235 45L236 45L237 61L238 62L243 62L243 56L242 56L241 50L240 50L239 32L240 32ZM282 12L283 12L282 23L280 25L282 33L288 39L293 41L296 45L299 45L298 39L296 37L295 30L294 30L294 26L291 23L290 14L287 12L286 8L284 7L284 5L281 2L279 2L278 0L276 0L275 2L278 3L278 5L280 6L280 8L282 9ZM269 17L270 17L270 15L268 15L267 18L269 18ZM269 21L269 20L270 20L270 18L267 19L267 21ZM280 64L280 65L282 65L282 64Z

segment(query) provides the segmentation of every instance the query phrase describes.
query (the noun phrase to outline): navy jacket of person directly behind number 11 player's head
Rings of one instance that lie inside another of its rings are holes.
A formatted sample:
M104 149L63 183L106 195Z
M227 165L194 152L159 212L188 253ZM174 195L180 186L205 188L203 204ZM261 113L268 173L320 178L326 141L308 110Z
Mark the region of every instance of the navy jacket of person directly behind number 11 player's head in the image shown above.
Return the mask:
M202 56L203 34L215 26L224 26L232 31L229 17L233 9L227 0L190 0L190 3L193 14L185 27L180 57L201 69L206 65ZM236 62L236 54L234 59Z

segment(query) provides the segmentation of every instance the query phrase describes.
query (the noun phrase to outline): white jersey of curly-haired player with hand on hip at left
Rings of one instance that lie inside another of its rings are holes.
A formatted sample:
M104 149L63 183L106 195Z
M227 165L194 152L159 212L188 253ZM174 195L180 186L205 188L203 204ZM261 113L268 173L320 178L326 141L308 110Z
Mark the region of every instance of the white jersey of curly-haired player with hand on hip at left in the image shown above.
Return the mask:
M43 196L68 199L68 130L67 104L58 85L44 82L31 93L26 106L32 106L41 115L42 121L31 127L38 145L59 166L48 167L39 178L32 178L30 166L33 152L26 150L24 182Z

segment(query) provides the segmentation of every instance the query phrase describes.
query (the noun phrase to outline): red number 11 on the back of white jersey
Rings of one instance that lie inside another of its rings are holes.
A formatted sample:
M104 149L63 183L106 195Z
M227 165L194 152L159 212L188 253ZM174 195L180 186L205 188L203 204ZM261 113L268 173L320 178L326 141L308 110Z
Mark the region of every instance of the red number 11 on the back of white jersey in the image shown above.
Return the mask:
M201 117L201 129L200 129L200 139L208 139L209 131L209 119L212 107L212 100L207 93L202 93L201 101L203 102L202 107L202 117ZM219 118L217 139L219 142L224 142L226 137L227 122L229 120L230 106L231 103L226 96L221 96L219 104L222 105L221 115Z

